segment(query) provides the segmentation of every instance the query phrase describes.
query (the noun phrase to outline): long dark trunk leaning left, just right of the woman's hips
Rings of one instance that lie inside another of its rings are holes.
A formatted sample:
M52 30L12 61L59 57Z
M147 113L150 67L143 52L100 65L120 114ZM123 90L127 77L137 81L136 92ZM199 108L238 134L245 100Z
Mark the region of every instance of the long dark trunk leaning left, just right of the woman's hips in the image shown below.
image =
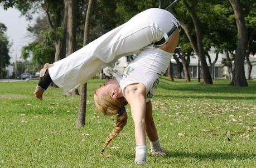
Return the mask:
M202 28L201 28L201 23L199 21L199 18L197 17L196 13L195 13L195 9L192 7L190 7L187 2L185 0L183 0L185 7L187 8L187 10L189 11L191 17L192 17L192 21L194 23L195 26L195 31L196 31L196 40L197 40L197 51L198 51L198 57L200 59L201 62L201 66L202 66L202 72L203 72L203 76L204 76L204 83L205 84L212 84L212 79L211 79L211 74L208 68L208 65L206 63L206 59L205 59L205 53L204 53L204 45L202 44Z

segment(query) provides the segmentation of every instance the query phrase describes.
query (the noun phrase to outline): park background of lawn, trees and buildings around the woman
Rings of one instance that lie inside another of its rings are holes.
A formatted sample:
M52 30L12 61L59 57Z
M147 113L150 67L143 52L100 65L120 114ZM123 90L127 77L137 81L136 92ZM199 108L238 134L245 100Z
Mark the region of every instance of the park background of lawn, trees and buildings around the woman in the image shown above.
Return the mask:
M180 21L180 42L152 100L168 151L164 157L149 155L146 166L255 167L256 2L175 2L168 11ZM0 1L2 8L16 8L35 21L24 38L32 37L31 42L12 61L8 27L0 23L0 166L135 167L131 116L107 154L99 154L115 117L98 114L93 91L104 75L122 72L136 55L102 70L72 93L52 85L42 102L32 95L35 74L44 63L68 57L135 14L170 3ZM20 80L22 73L31 75Z

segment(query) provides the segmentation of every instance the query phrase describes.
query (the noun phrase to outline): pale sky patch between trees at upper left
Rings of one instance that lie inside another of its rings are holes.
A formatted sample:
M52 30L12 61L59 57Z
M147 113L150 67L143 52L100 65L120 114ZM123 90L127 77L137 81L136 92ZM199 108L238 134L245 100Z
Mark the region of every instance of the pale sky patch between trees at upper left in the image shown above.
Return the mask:
M25 17L21 16L21 13L15 8L8 8L4 10L0 6L0 22L7 27L7 36L9 42L12 42L9 55L11 56L10 62L15 62L15 55L17 54L17 60L21 60L21 48L30 42L31 38L28 38L27 26L32 24L27 21Z

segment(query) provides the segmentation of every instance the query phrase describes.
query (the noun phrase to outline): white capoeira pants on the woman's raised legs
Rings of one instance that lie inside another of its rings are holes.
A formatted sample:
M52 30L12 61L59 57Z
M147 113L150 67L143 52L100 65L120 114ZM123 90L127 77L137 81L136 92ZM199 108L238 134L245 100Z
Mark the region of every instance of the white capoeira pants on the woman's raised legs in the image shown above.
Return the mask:
M123 56L139 50L165 37L173 26L178 27L173 15L163 9L143 11L128 22L102 35L49 68L52 81L65 92L86 83L97 72L112 65Z

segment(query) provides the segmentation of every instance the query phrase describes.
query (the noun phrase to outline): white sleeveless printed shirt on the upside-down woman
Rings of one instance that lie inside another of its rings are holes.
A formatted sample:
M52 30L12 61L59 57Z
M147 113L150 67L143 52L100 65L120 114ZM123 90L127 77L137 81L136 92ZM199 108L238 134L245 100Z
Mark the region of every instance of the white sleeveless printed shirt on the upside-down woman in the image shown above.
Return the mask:
M133 83L143 83L147 89L146 102L156 94L159 78L166 72L173 53L168 53L153 45L144 47L137 58L125 68L117 81L125 97L125 87Z

